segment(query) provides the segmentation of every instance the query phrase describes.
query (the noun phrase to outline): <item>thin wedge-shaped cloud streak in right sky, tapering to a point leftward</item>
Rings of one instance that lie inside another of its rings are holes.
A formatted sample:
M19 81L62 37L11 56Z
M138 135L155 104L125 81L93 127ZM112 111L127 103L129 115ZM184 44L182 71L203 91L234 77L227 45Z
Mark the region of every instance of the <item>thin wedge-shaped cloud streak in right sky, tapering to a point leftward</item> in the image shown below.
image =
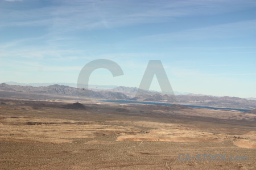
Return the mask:
M160 41L195 41L204 39L227 39L230 37L242 37L245 32L254 32L256 27L256 20L248 20L242 22L217 24L209 27L201 27L194 29L187 29L183 31L176 31L171 33L162 33L150 36L142 36L130 41L141 43L143 42L160 42ZM241 32L241 34L237 34ZM126 43L127 43L126 42ZM226 48L226 47L223 47ZM254 46L252 48L255 48Z

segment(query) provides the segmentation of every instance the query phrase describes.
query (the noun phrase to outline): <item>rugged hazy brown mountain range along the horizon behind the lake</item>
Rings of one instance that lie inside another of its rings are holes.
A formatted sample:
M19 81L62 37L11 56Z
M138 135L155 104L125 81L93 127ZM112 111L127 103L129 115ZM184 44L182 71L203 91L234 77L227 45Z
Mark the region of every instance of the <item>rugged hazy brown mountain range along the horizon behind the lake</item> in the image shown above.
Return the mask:
M48 94L56 96L81 96L93 99L114 99L114 100L137 100L137 101L157 101L175 104L201 105L209 107L244 108L255 109L256 101L239 97L216 97L206 95L165 95L159 92L143 91L136 87L115 87L109 90L86 90L69 87L59 84L50 86L19 86L6 83L0 84L0 90L19 92L24 94ZM136 95L139 91L139 95ZM1 97L1 96L0 96Z

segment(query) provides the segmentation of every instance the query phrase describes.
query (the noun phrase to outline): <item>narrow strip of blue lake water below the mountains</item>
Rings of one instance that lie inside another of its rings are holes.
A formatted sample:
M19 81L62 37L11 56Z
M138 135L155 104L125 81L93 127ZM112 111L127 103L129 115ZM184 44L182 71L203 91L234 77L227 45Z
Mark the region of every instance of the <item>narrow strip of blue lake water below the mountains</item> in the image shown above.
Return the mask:
M170 103L159 103L159 102L151 102L151 101L131 101L131 100L102 100L102 101L112 102L112 103L140 103L140 104L153 104L153 105L173 105ZM216 107L204 107L204 106L199 106L199 105L183 105L183 106L191 107L191 108L234 110L234 111L241 111L241 112L250 111L250 109L216 108Z

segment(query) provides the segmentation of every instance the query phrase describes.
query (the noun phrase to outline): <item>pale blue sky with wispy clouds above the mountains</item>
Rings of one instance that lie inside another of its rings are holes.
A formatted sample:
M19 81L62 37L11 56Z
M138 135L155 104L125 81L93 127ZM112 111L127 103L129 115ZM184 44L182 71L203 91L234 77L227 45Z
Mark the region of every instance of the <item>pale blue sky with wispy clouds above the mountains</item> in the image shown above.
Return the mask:
M139 87L160 60L174 91L256 97L256 2L0 0L0 83L76 83L94 59L123 75L89 84Z

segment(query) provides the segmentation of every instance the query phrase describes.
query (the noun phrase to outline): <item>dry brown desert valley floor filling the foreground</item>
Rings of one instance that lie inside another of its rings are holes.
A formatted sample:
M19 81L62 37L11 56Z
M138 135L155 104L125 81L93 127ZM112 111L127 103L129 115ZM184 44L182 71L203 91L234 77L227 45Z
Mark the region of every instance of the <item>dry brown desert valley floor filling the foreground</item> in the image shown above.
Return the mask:
M0 169L256 169L254 113L75 102L2 98Z

